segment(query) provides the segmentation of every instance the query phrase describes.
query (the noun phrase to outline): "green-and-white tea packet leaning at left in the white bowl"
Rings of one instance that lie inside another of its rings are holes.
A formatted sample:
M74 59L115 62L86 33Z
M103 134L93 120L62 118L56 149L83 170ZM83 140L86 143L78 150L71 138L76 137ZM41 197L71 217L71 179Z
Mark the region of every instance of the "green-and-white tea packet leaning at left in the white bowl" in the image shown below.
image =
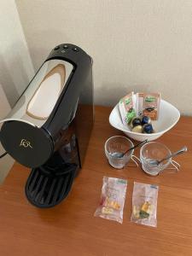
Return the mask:
M124 125L129 124L131 119L136 117L136 108L134 106L133 95L134 92L132 91L119 101L119 112Z

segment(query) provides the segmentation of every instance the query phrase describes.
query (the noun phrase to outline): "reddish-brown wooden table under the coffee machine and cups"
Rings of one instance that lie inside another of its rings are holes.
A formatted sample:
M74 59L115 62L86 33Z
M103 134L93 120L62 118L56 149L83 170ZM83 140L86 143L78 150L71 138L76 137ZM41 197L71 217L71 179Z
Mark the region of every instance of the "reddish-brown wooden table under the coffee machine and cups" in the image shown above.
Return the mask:
M24 193L29 171L15 164L0 189L1 256L192 255L192 118L182 117L158 140L172 150L188 146L189 152L177 157L181 171L148 177L140 167L116 171L108 165L104 143L121 134L108 124L110 111L96 108L84 167L61 205L32 207ZM128 179L123 224L93 216L103 176ZM130 221L134 181L160 186L157 228Z

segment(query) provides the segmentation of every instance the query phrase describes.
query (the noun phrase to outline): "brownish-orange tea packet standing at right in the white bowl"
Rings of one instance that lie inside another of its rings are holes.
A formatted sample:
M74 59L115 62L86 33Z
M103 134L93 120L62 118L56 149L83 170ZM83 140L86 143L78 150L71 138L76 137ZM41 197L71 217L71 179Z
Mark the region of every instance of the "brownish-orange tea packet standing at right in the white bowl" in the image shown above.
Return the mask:
M157 120L160 113L160 93L137 93L137 115Z

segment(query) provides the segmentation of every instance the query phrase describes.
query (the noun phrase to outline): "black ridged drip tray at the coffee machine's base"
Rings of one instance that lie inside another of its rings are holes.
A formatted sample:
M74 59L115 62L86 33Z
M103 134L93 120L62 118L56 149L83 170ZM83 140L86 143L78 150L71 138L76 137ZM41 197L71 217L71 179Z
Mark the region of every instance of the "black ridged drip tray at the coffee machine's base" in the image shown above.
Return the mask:
M26 197L40 208L54 207L70 191L78 166L63 164L60 167L40 166L32 169L26 182Z

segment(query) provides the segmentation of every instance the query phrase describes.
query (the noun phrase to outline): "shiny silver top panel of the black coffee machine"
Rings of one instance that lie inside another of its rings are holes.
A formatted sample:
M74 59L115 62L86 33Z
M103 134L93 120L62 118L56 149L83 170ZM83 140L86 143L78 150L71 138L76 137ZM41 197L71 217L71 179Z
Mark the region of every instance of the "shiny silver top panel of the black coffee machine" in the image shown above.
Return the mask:
M1 122L23 120L33 126L44 125L55 108L61 91L65 90L73 68L73 65L67 61L56 59L45 61L15 107Z

